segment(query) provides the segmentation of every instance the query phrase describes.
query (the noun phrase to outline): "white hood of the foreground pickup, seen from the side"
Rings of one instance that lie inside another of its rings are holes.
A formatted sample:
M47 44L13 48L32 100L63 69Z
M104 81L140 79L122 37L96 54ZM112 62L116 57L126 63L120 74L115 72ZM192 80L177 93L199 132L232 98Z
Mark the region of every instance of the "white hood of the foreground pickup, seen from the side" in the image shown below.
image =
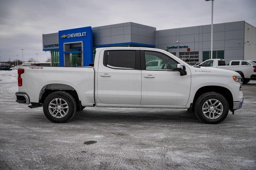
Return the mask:
M191 74L219 74L219 75L225 75L225 76L240 76L238 72L232 71L232 70L224 70L221 68L214 68L214 67L192 67L191 69Z

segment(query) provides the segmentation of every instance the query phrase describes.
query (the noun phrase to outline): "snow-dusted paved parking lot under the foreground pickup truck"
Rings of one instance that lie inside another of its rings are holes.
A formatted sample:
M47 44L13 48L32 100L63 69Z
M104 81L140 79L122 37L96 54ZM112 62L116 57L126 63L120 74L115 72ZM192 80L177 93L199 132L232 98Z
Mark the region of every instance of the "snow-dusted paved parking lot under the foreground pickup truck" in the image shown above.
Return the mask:
M0 169L256 169L256 81L218 125L184 109L86 107L72 121L14 102L0 83Z

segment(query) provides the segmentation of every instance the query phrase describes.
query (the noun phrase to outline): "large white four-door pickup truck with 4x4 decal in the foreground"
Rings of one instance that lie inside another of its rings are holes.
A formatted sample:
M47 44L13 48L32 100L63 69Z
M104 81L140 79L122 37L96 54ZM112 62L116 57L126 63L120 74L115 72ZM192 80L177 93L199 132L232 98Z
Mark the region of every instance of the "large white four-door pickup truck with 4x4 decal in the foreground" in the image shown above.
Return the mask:
M156 60L164 66L146 67ZM241 80L237 72L193 67L161 49L98 48L94 66L20 66L16 102L43 106L55 123L69 121L84 107L98 106L188 109L215 124L229 110L242 107Z

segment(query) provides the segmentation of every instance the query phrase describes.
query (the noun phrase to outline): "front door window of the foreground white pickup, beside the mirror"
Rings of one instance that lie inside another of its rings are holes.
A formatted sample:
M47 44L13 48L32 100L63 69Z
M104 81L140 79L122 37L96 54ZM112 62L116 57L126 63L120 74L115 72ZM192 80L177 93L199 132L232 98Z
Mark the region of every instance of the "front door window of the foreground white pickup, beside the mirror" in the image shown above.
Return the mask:
M145 51L146 70L174 70L178 62L155 51Z

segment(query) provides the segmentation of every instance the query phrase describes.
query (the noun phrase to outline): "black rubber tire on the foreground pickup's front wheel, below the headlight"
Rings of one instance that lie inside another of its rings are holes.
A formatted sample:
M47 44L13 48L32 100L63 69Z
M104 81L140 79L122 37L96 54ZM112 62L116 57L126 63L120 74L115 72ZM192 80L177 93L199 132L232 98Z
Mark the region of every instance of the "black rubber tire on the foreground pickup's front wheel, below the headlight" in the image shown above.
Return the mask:
M222 114L216 119L210 119L206 117L202 111L202 107L204 103L210 99L215 99L220 101L223 106ZM194 109L195 109L196 117L200 121L208 124L217 124L224 121L224 119L226 119L229 111L229 106L228 106L228 101L221 94L218 94L216 92L207 92L198 97L198 99L196 100Z

